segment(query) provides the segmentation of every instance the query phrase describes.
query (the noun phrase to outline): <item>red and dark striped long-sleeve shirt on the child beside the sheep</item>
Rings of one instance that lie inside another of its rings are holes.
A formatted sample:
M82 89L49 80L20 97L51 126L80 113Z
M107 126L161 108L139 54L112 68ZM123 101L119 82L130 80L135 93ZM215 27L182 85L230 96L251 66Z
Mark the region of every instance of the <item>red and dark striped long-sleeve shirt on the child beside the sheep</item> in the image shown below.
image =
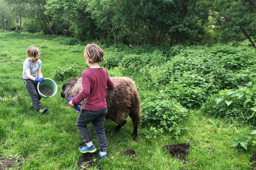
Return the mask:
M91 68L82 73L82 91L72 99L72 104L86 100L86 110L101 110L107 108L105 99L106 86L111 89L114 83L108 77L108 71L103 68Z

